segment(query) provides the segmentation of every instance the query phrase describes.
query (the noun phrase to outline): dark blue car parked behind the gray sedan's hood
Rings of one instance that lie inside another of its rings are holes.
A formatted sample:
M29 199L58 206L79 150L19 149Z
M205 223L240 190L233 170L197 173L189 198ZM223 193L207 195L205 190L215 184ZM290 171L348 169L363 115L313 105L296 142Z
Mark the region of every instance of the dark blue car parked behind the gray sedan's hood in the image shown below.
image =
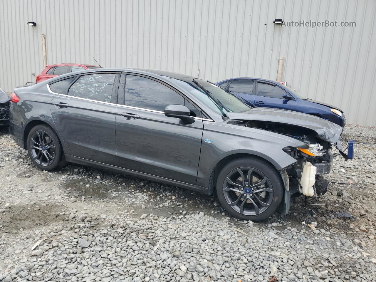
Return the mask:
M303 97L295 90L272 80L238 77L216 83L256 107L278 108L315 115L345 126L344 113L336 106Z

